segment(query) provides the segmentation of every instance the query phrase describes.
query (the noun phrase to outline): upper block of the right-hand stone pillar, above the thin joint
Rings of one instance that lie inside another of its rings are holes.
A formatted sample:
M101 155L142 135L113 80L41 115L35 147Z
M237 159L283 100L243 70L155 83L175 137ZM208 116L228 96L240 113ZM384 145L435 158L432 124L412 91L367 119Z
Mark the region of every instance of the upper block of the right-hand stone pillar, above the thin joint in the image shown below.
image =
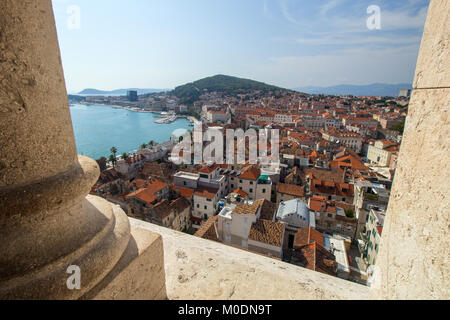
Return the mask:
M413 88L450 88L449 21L450 1L431 0Z

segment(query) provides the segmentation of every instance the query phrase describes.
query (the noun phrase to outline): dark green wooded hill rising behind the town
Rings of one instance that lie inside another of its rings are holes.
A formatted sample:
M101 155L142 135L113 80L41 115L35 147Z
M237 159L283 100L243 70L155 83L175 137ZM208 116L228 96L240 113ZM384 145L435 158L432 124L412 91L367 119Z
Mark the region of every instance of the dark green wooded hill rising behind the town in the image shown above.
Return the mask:
M276 91L287 89L249 79L216 75L176 87L172 93L181 100L181 103L192 104L199 99L205 90L208 92L222 92L233 96L249 93L253 90Z

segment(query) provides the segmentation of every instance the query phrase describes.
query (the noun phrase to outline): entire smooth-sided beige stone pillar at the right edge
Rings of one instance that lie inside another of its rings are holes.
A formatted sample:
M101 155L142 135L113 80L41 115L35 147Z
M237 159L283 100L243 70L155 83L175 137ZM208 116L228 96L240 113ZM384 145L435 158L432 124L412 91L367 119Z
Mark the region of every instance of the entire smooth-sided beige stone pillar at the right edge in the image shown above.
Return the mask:
M430 1L372 298L450 298L449 14Z

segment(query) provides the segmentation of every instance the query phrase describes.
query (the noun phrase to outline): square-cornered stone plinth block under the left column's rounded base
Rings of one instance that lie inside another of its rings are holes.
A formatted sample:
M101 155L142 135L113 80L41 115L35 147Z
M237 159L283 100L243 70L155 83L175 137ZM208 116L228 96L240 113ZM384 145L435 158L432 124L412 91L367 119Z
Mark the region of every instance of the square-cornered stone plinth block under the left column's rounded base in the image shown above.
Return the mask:
M166 299L164 253L159 234L131 221L131 239L116 267L83 299Z

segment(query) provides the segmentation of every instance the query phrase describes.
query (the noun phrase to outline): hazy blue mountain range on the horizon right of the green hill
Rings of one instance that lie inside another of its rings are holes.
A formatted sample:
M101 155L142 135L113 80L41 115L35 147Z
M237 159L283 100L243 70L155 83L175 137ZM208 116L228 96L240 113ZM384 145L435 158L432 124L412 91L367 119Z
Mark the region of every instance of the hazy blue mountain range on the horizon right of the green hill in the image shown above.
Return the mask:
M327 95L352 95L352 96L388 96L397 97L400 90L412 89L409 83L387 84L374 83L369 85L338 85L333 87L301 87L295 88L295 91L308 94L327 94Z

